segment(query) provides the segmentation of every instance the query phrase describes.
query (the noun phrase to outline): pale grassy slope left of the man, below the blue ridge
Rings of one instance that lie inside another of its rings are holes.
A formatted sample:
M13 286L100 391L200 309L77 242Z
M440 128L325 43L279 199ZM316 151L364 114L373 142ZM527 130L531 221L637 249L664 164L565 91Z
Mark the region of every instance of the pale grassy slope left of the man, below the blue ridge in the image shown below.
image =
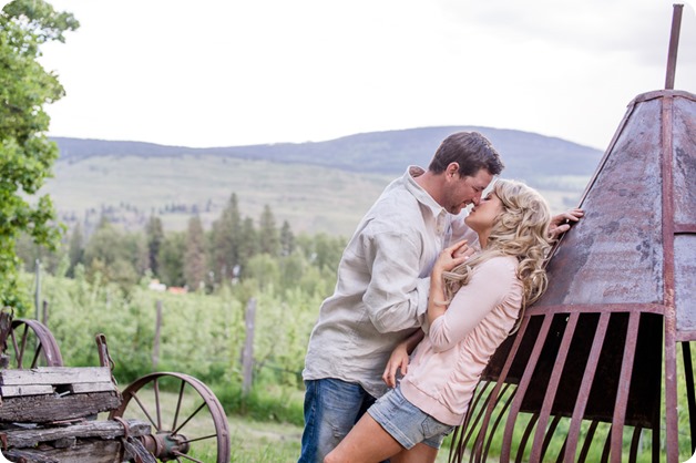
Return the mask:
M390 175L358 174L318 166L217 156L142 158L102 156L59 162L44 191L68 224L85 216L95 224L111 210L127 229L152 213L165 229L184 229L198 210L204 225L219 216L232 193L244 216L255 220L268 204L280 226L348 236L379 196Z

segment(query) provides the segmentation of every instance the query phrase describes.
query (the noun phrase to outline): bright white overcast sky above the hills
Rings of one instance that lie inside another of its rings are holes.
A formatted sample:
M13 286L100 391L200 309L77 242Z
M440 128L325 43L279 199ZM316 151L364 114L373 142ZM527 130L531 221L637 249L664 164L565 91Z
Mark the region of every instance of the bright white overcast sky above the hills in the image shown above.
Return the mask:
M7 1L6 1L7 2ZM482 125L604 150L664 89L667 0L53 0L50 135L185 146ZM684 7L677 90L696 92Z

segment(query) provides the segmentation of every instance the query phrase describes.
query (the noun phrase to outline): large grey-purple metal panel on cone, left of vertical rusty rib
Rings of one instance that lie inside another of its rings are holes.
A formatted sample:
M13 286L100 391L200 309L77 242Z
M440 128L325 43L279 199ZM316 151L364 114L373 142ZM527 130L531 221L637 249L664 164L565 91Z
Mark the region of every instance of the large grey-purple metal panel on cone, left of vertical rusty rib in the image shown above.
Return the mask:
M549 265L535 307L663 299L661 100L635 105ZM657 175L656 175L657 174Z

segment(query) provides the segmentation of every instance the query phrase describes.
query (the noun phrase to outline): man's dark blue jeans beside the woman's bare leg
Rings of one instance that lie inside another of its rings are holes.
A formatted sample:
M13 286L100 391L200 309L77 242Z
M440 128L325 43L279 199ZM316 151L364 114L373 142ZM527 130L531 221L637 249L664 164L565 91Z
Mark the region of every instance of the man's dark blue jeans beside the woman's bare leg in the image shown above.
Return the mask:
M305 431L298 463L321 463L375 402L360 384L305 381Z

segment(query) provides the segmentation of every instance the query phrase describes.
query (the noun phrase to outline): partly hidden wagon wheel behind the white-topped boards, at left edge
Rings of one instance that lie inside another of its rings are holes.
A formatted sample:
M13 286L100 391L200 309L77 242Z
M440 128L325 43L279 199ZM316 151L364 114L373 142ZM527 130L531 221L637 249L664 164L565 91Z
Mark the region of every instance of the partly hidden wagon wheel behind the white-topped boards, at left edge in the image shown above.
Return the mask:
M3 353L8 368L62 367L63 358L55 338L45 325L31 319L12 320Z

